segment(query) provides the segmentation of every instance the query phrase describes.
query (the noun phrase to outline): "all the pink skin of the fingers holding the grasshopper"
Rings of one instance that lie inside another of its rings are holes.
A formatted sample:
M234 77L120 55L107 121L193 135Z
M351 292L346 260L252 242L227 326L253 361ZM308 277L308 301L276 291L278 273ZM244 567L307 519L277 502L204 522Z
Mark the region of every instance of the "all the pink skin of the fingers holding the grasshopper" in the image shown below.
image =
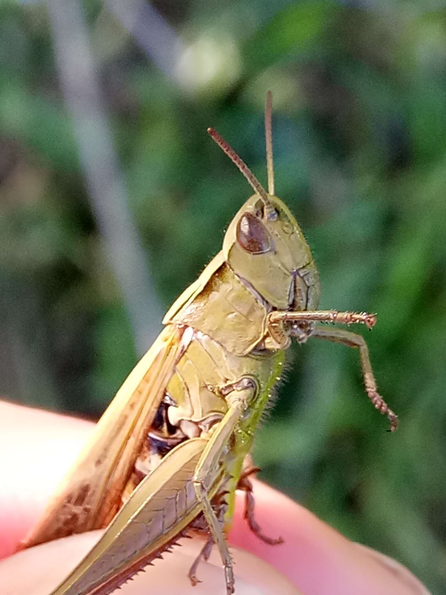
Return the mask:
M10 556L92 428L93 424L80 419L0 402L3 595L48 595L98 538L95 531ZM251 533L243 519L243 494L239 494L230 534L237 595L428 595L394 560L352 543L284 494L260 481L253 483L256 521L268 536L283 537L284 544L268 546ZM182 548L166 553L164 560L124 585L121 593L224 594L218 552L212 552L209 563L200 564L197 574L203 583L192 587L185 575L203 542L196 538L182 543Z

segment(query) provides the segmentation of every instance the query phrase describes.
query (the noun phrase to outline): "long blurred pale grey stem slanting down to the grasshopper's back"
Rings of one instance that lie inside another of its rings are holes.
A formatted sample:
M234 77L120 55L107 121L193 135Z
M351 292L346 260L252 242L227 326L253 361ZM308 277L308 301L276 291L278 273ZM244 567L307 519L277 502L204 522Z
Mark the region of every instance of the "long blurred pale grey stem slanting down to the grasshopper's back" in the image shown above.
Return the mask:
M48 0L56 63L73 120L92 211L123 296L138 353L155 339L162 308L128 208L95 63L78 0Z

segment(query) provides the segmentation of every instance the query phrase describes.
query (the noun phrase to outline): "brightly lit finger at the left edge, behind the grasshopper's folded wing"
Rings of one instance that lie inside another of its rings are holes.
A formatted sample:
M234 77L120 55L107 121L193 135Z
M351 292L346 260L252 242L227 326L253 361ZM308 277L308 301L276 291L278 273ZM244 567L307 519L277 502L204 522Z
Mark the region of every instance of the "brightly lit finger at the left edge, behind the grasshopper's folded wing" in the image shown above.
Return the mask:
M36 522L94 425L0 402L0 558Z

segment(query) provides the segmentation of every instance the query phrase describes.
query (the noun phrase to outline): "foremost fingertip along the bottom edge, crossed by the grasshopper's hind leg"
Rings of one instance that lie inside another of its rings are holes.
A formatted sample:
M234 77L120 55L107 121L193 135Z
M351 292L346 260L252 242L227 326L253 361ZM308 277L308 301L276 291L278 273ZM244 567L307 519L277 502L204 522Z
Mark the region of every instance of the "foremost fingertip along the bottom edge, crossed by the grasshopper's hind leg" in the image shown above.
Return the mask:
M100 531L67 537L37 546L11 556L0 563L2 595L48 595L73 569L87 550L93 546ZM122 585L123 595L225 595L224 572L221 558L213 548L208 562L200 562L197 575L201 581L193 587L187 578L203 541L199 538L181 541L156 560L146 572ZM249 552L234 550L235 585L237 595L300 595L297 588L277 569L261 562Z

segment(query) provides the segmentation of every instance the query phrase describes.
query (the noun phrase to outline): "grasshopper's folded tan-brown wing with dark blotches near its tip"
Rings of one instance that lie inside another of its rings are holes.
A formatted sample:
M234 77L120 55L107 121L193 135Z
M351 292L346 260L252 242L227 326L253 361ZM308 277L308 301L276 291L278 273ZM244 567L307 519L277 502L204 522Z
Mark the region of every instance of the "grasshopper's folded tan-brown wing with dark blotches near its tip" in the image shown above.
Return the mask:
M133 368L22 548L108 525L188 335L169 325Z

